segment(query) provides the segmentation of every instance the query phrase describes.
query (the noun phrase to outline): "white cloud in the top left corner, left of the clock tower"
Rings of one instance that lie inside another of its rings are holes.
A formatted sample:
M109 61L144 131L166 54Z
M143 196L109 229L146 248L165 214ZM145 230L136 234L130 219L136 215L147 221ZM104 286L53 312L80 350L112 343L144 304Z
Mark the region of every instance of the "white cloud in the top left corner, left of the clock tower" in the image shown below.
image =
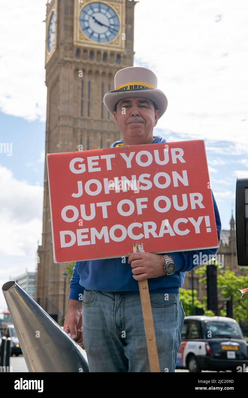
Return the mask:
M45 121L44 0L1 2L0 109Z

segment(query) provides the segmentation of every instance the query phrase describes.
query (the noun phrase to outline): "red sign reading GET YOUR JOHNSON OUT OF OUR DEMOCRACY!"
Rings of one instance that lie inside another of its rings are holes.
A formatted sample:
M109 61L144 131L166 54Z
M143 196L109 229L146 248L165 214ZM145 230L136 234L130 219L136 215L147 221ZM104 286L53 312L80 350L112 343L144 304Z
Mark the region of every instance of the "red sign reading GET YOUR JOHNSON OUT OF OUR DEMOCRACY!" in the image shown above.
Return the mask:
M55 263L219 246L204 140L47 154Z

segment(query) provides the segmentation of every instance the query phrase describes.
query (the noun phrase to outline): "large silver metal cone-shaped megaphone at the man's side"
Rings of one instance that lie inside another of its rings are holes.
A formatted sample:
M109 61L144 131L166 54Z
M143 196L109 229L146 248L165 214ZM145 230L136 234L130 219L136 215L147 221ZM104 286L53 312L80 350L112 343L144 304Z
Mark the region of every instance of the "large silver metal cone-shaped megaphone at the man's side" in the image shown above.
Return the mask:
M29 372L89 372L86 352L16 281L2 292Z

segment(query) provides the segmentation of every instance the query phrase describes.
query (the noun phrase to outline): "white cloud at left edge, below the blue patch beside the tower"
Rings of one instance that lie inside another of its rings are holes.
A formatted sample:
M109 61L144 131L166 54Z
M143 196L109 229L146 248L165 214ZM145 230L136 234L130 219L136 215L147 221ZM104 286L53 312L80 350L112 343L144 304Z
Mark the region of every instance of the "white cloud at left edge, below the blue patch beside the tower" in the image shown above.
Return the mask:
M0 166L0 254L33 256L42 230L43 187L18 181ZM41 242L40 242L41 243Z

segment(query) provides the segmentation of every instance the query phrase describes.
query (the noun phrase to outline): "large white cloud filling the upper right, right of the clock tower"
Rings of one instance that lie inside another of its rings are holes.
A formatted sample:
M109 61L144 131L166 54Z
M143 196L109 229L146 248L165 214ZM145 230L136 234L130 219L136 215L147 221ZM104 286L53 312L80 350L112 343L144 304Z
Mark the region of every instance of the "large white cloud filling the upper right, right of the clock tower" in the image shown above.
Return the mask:
M242 120L248 119L246 15L244 0L136 4L135 65L150 66L168 98L158 127L242 142Z

